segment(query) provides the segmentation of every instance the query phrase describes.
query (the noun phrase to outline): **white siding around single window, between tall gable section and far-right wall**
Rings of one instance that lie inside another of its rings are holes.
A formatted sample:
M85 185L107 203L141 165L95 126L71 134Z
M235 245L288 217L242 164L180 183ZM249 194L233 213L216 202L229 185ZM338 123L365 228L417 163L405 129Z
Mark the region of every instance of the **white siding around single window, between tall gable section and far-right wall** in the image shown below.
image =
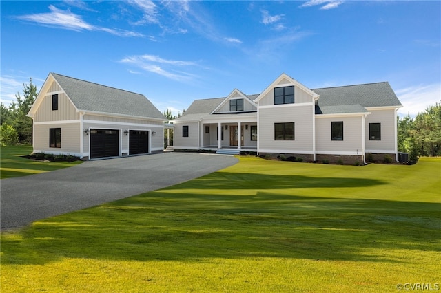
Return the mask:
M316 116L316 153L323 155L361 155L363 150L362 116ZM331 122L343 122L343 140L331 140Z

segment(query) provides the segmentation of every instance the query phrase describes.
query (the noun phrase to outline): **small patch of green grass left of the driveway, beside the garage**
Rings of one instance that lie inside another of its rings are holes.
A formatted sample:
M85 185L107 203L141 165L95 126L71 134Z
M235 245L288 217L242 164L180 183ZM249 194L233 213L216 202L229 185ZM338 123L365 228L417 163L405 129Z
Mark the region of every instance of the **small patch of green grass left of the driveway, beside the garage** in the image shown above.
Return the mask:
M29 155L30 153L32 153L32 146L1 146L0 179L49 172L81 164L81 161L37 162L21 158L22 155Z

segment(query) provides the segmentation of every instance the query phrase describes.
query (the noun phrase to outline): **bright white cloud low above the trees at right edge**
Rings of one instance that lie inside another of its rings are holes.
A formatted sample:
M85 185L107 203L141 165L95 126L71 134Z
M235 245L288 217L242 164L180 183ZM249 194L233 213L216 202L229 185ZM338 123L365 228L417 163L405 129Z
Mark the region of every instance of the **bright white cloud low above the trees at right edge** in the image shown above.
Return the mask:
M403 105L402 108L398 109L400 116L406 116L410 113L411 116L415 117L416 114L424 112L427 107L441 102L441 83L398 89L396 95Z

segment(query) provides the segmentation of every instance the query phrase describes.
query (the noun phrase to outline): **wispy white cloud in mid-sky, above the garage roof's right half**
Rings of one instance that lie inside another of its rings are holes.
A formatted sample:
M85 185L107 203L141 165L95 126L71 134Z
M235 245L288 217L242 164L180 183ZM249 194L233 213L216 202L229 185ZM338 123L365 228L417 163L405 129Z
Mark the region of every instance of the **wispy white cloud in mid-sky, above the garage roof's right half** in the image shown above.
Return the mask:
M189 81L197 77L195 74L183 72L181 69L178 69L197 65L191 61L167 60L159 56L145 54L125 57L121 60L121 63L130 64L146 72L152 72L181 82Z

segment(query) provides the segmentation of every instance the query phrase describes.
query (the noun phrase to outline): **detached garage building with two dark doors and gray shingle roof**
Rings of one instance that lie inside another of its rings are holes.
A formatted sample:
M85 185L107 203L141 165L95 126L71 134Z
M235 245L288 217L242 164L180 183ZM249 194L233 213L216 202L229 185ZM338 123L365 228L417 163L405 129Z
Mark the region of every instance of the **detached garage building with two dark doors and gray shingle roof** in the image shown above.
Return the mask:
M34 153L88 160L163 151L167 118L130 91L50 73L28 116Z

